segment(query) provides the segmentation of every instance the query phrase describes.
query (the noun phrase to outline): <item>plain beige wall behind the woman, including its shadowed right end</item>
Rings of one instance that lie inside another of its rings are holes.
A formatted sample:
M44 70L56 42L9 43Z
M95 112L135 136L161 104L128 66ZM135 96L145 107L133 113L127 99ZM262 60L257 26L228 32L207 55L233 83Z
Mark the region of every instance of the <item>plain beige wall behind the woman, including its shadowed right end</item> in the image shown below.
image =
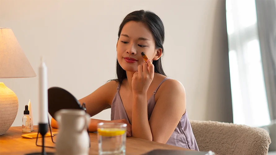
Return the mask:
M1 0L0 27L11 27L37 74L44 55L49 87L62 87L80 99L115 78L119 24L139 9L154 11L164 22L163 66L185 86L189 118L232 122L223 0ZM13 126L21 125L29 99L36 125L38 77L0 81L19 100ZM94 118L110 120L110 110Z

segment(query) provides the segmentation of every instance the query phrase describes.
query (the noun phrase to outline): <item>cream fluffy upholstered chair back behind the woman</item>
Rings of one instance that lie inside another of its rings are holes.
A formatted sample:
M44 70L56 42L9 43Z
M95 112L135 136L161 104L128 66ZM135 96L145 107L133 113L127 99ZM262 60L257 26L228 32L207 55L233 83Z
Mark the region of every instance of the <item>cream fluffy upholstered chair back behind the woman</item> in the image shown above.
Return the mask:
M190 120L200 151L219 155L267 155L271 143L262 128L233 123Z

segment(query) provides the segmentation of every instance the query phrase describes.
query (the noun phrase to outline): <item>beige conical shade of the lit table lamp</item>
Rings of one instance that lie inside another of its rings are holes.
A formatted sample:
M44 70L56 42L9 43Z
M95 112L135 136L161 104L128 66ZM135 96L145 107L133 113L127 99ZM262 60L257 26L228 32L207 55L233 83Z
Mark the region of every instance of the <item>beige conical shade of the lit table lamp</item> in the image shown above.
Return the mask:
M0 28L0 78L36 77L11 28Z

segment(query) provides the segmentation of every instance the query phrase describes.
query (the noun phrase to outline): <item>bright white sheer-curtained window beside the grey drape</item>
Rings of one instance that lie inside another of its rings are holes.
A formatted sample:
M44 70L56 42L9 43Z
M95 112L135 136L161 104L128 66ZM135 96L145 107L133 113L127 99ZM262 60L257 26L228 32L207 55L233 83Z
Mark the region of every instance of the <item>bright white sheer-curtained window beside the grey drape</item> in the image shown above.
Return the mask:
M233 122L256 127L268 125L267 83L260 53L260 22L259 18L257 22L255 0L226 0L226 20Z

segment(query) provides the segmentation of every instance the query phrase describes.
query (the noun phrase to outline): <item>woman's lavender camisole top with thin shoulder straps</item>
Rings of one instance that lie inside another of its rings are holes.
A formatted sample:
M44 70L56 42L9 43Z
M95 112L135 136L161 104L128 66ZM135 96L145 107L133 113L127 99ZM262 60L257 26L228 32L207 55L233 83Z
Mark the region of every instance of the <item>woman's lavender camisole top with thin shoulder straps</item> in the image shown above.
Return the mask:
M167 79L169 78L168 77L164 78L162 82L160 82L160 84L153 92L153 95L148 100L148 119L150 118L151 113L155 106L154 95L158 90L159 86ZM111 120L125 119L127 120L127 122L129 122L127 113L122 104L119 90L120 90L120 84L117 87L117 92L111 104ZM178 125L176 126L176 129L173 131L171 137L169 138L166 144L199 151L197 142L194 138L194 133L192 131L191 124L188 119L187 111L181 117Z

